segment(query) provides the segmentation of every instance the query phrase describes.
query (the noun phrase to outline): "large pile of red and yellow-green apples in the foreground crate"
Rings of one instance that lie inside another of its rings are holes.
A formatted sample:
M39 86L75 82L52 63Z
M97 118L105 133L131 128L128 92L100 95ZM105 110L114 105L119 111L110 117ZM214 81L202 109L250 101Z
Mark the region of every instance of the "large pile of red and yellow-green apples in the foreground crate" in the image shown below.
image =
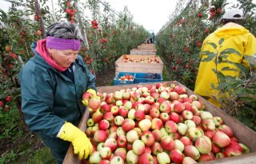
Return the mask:
M187 164L250 152L185 87L158 83L98 97L87 99L90 163Z

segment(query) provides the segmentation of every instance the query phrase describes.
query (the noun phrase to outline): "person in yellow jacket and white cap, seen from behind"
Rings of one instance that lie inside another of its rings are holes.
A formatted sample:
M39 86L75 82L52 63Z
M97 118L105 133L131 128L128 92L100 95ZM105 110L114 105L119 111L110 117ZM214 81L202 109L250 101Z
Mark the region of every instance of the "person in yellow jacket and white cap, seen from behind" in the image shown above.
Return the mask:
M204 62L202 59L207 58L208 55L204 54L205 51L210 51L218 55L222 50L234 49L237 50L238 54L227 54L230 62L240 63L246 67L249 67L249 62L246 61L245 55L251 56L254 55L256 58L256 38L253 34L246 30L243 26L239 25L244 19L242 16L242 10L232 8L226 10L226 13L223 14L221 22L222 27L210 34L203 42L201 50L201 62L198 69L198 76L195 82L194 92L201 95L203 98L206 98L209 102L212 102L215 106L220 107L221 104L218 102L218 90L213 90L211 85L218 86L218 78L214 69L221 71L225 76L230 75L236 77L239 74L237 66L233 64L222 62L214 62L213 58L209 62ZM223 42L220 46L219 41L223 39ZM214 43L217 47L210 45L209 43ZM234 70L222 70L224 67L229 67Z

